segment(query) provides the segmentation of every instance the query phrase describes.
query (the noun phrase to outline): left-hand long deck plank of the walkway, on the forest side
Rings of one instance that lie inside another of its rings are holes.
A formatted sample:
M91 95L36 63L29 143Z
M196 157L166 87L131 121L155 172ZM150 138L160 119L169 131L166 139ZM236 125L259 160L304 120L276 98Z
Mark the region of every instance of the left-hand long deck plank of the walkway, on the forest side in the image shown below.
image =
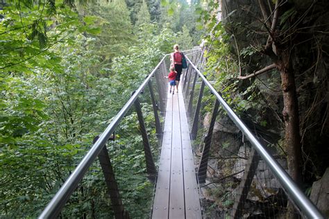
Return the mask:
M170 188L170 160L172 135L172 96L167 96L166 117L162 136L162 148L159 162L158 179L155 187L152 218L168 218L169 188Z

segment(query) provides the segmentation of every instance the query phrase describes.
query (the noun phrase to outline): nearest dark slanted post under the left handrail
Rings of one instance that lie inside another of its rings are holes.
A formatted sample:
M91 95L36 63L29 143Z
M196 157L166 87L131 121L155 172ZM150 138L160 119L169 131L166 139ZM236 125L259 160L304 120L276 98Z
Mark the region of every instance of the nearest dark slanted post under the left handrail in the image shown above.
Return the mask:
M99 137L95 137L93 143L95 143ZM113 211L115 211L115 219L128 219L129 213L124 210L122 204L119 189L117 186L117 180L115 180L115 173L113 172L110 156L108 155L108 149L106 145L103 146L101 152L99 152L99 164L104 174L106 186L108 187L108 193L112 202Z

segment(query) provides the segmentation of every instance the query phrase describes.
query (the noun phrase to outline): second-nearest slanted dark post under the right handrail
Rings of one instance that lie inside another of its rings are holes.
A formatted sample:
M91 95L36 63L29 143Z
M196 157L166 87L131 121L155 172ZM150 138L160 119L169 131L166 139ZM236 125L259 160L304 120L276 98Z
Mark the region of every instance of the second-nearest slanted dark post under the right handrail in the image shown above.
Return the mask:
M208 134L205 137L205 141L204 141L205 144L203 145L201 161L200 161L199 168L198 168L197 175L198 175L199 183L205 183L205 177L207 177L210 143L211 143L211 139L212 139L212 131L214 130L214 121L216 120L218 109L219 109L219 101L216 99L216 102L214 103L214 109L212 111L212 117L211 117L211 121L210 121Z

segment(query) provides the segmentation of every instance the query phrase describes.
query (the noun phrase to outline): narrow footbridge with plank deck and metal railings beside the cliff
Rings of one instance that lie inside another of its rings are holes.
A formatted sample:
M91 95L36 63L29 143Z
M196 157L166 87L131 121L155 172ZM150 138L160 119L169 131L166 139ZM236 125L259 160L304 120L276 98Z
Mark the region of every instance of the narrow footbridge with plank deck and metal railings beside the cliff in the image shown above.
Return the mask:
M235 195L230 197L230 200L234 200L234 202L226 206L226 218L247 218L248 211L246 208L252 208L252 203L258 203L258 206L254 204L256 207L253 206L253 211L265 209L264 206L271 209L271 211L267 210L269 212L260 212L259 218L278 218L282 211L287 211L288 200L292 202L295 208L294 212L298 216L325 218L319 209L298 189L285 168L282 167L282 161L271 155L264 143L261 143L262 139L255 137L203 76L201 71L204 58L201 49L192 49L184 51L184 53L189 66L183 71L178 92L171 94L168 91L165 76L167 76L170 62L169 54L167 54L133 93L106 130L94 139L92 148L42 211L39 218L58 217L70 195L76 190L88 168L97 158L103 170L115 218L130 218L129 212L121 200L120 185L115 179L116 175L125 173L114 172L106 143L132 107L135 107L140 123L146 171L149 176L149 179L146 180L151 180L155 184L153 206L149 213L150 218L203 218L204 212L200 200L203 194L200 187L205 186L208 177L207 170L211 167L209 163L211 159L210 146L212 139L215 138L213 134L219 111L226 114L229 119L229 121L221 124L223 126L221 128L222 133L230 132L230 134L219 134L217 140L222 143L239 145L235 152L230 151L235 155L234 161L221 162L223 166L235 172L228 175L221 173L222 180L225 181L225 179L234 176L238 181L233 192ZM155 131L161 144L158 166L155 165L151 152L149 136L146 132L140 105L139 97L146 88L149 89L154 112ZM203 128L202 135L200 114L201 107L204 107L202 98L205 89L208 89L208 93L212 94L214 104L210 114L210 122L206 128ZM161 116L164 118L163 122L161 122ZM196 161L194 160L192 143L198 138L203 139L201 142L202 153L200 159ZM267 172L270 172L267 177L261 177ZM227 184L223 185L226 186ZM230 185L232 186L232 184ZM254 198L251 198L255 191L261 193L258 194L258 198L261 196L262 202L251 202L251 200L255 200L255 195ZM273 197L278 198L279 196L281 197L280 200L273 199ZM260 203L264 205L262 208Z

